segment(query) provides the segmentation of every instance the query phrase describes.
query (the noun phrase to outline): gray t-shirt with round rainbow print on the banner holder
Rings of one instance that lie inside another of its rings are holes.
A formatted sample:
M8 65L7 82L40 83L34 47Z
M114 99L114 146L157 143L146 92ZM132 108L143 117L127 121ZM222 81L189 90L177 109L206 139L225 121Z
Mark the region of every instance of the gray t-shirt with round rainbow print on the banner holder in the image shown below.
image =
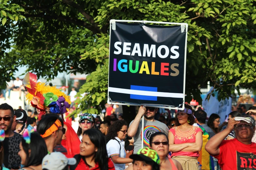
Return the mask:
M131 123L133 120L131 121ZM130 123L130 125L131 125ZM130 126L129 125L129 126ZM142 119L139 123L139 127L137 129L137 132L135 134L134 138L134 149L133 153L136 154L139 149L141 149L141 131L142 131ZM147 121L144 119L144 147L148 147L149 145L149 138L152 134L156 132L163 132L168 136L169 128L166 126L166 124L160 122L160 121Z

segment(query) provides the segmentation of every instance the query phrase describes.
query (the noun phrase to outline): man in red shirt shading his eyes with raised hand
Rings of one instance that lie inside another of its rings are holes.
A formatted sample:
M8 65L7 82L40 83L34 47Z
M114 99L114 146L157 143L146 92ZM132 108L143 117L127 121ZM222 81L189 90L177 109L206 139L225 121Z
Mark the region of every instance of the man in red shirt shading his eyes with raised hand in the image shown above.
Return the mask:
M234 129L236 138L224 140ZM226 129L214 135L205 150L218 159L223 170L256 169L256 143L251 142L255 120L248 115L232 118Z

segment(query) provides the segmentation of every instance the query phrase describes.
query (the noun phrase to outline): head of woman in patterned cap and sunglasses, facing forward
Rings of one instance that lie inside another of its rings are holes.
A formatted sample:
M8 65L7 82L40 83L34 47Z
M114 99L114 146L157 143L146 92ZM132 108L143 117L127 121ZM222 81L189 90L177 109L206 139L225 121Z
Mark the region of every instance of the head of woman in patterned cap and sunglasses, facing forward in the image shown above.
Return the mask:
M90 113L83 113L80 115L79 127L77 129L77 136L82 140L84 132L88 129L92 129L94 126L93 116Z

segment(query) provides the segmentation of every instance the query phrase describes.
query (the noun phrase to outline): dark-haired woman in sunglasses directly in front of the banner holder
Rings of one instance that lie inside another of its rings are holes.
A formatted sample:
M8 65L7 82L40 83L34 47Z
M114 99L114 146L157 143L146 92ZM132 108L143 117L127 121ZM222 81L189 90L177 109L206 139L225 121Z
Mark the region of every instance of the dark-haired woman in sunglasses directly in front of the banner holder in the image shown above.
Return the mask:
M160 168L165 170L182 170L181 164L166 155L169 152L169 140L167 135L162 132L156 132L149 138L149 148L157 152L160 157Z

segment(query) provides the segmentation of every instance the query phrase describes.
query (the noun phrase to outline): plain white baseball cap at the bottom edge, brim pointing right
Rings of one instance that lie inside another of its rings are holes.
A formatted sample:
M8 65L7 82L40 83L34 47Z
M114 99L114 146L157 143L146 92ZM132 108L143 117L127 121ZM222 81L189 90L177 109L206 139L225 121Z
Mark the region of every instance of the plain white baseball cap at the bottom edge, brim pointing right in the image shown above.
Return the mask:
M67 165L75 165L76 163L75 158L67 158L61 152L52 152L43 158L42 169L62 170Z

